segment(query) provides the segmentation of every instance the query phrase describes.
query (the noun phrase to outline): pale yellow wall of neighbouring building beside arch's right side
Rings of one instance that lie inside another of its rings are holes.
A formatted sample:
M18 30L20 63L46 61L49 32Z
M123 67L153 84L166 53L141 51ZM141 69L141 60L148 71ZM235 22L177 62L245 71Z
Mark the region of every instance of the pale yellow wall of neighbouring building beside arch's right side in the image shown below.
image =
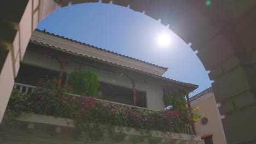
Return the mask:
M202 125L201 120L195 123L196 133L201 136L211 133L213 134L212 139L214 144L225 144L224 133L213 93L207 94L212 94L212 96L194 105L200 107L198 113L203 114L202 117L208 118L206 125ZM202 143L204 143L204 140L202 140Z

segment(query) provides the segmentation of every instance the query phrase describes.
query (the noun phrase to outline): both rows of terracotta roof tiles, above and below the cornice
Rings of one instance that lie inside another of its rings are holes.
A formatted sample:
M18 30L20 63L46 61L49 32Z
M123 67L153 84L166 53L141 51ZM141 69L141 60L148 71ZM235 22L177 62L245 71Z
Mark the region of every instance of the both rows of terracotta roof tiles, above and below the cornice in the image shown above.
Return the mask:
M40 30L36 29L36 31L40 31ZM40 31L40 32L44 32L44 31ZM44 33L48 33L48 32L44 32ZM57 36L57 37L61 37L61 36L59 36L59 35L55 35L55 34L51 34L51 33L48 33L48 34L54 35L54 36ZM62 37L61 37L61 38L62 38ZM72 40L72 39L68 39L68 38L64 38L64 37L63 37L63 39ZM75 41L75 40L72 40L72 41ZM80 43L80 42L78 42L78 41L75 41L75 42ZM198 88L198 85L194 85L194 84L186 83L186 82L179 82L179 81L176 81L176 80L168 79L167 77L164 77L164 76L159 76L159 75L155 75L155 74L152 74L152 73L147 73L146 71L142 71L142 70L138 70L138 69L126 67L126 66L124 66L124 65L120 65L120 64L116 64L116 63L112 63L112 62L103 61L102 59L93 58L93 57L88 57L88 56L83 56L83 55L80 55L80 54L75 53L75 52L67 51L67 50L65 50L65 49L64 49L64 50L63 50L63 49L60 49L59 47L55 47L55 46L50 46L50 45L48 45L48 44L39 43L38 41L32 41L32 40L31 40L31 43L36 43L36 44L39 44L39 45L43 45L43 46L46 46L46 47L50 47L51 49L59 50L59 51L66 52L66 53L71 53L72 55L87 57L87 58L95 59L95 60L97 60L97 61L101 61L101 62L103 62L103 63L108 63L108 64L110 64L110 65L115 65L115 66L118 66L118 67L121 67L121 68L125 68L125 69L130 69L130 70L133 70L133 71L137 71L137 72L139 72L139 73L148 75L148 76L150 76L150 77L155 77L155 78L160 79L160 80L163 80L163 81L173 82L173 83L177 83L178 85L190 87L190 88L192 88L192 90ZM81 43L81 44L84 44L84 43ZM88 44L84 44L84 45L90 46L90 45L88 45ZM92 46L92 47L93 47L93 46ZM100 49L100 48L98 48L98 47L95 47L95 48L96 48L96 49ZM100 50L103 50L103 49L100 49ZM107 50L103 50L103 51L107 51ZM111 51L108 51L108 52L111 52ZM114 53L114 52L113 52L113 53ZM116 55L120 55L120 54L118 54L118 53L115 53L115 54L116 54ZM120 56L124 56L124 55L120 55ZM128 56L124 56L124 57L128 57ZM129 58L132 58L132 57L129 57ZM132 58L132 59L134 59L134 58ZM138 59L136 59L136 60L137 60L137 61L141 61L141 60L138 60ZM144 62L144 61L142 61L142 62ZM147 63L147 62L144 62L144 63ZM150 64L150 63L148 63L148 64ZM152 65L154 65L154 64L152 64ZM160 66L158 66L158 65L155 65L155 66L156 66L156 67L160 67ZM164 67L161 67L161 68L164 68ZM166 68L166 70L167 70L167 68Z

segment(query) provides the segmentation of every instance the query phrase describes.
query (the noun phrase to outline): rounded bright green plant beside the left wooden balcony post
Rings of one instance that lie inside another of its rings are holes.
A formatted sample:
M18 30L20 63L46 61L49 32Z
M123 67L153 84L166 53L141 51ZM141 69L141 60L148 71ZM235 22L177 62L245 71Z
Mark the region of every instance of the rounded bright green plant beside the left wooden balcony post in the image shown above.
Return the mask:
M71 85L74 89L73 94L83 94L94 97L98 91L98 77L92 71L82 71L80 68L78 71L73 71L68 75L68 85Z

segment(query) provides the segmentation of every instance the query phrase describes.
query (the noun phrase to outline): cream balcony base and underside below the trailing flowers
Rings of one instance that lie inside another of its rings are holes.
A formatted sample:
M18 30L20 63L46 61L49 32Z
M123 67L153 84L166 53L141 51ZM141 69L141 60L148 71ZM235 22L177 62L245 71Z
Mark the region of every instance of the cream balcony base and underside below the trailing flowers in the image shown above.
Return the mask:
M76 135L72 119L55 118L51 116L30 114L19 119L21 121L18 129L0 128L0 143L4 144L48 144L48 143L149 143L149 141L135 129L126 130L120 134L115 128L115 133L105 133L103 137L91 141L88 134ZM165 136L160 131L153 131L151 143L179 143L194 144L201 141L200 136L188 134L170 133ZM103 139L102 139L103 138ZM2 141L1 141L2 139Z

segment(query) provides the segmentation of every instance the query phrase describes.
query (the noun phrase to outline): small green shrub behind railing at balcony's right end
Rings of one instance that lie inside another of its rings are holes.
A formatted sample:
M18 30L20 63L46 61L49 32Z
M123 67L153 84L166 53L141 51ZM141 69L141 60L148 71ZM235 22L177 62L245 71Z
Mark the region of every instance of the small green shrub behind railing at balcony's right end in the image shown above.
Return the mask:
M172 109L178 109L179 107L181 107L181 105L185 106L187 105L187 101L184 98L184 93L183 92L173 92L173 93L166 93L166 95L164 95L164 103L167 106L172 106Z

